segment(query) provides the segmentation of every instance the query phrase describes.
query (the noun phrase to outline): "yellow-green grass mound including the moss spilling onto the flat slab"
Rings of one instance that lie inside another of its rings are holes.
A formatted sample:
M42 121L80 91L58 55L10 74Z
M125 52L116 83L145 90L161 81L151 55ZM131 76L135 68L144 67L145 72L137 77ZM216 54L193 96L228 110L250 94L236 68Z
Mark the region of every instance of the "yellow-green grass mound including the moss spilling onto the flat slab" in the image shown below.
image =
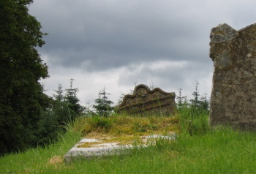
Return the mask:
M73 131L81 132L83 137L97 138L100 142L80 144L80 147L94 147L100 143L118 143L118 145L147 143L145 135L170 135L179 132L178 116L129 116L115 115L109 118L79 118L72 126Z

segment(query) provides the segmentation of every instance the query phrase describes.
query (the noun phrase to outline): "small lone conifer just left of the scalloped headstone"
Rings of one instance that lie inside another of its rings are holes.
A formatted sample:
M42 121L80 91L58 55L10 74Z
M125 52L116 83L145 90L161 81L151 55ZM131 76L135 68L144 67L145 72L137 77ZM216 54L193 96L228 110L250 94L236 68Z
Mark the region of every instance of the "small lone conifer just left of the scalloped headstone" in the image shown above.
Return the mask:
M113 102L108 99L108 95L110 94L103 88L102 91L99 91L99 98L95 99L96 105L93 105L93 107L96 109L99 116L108 117L113 110L111 106Z

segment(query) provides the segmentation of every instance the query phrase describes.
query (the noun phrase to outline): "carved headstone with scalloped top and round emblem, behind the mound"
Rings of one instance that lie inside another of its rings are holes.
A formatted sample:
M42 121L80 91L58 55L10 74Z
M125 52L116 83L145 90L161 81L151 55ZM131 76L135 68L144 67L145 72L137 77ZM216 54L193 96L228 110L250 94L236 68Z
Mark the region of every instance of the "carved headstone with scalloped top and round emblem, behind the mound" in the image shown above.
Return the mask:
M126 95L118 110L127 113L162 113L171 114L176 109L175 93L162 91L160 88L150 90L146 85L135 87L132 95Z

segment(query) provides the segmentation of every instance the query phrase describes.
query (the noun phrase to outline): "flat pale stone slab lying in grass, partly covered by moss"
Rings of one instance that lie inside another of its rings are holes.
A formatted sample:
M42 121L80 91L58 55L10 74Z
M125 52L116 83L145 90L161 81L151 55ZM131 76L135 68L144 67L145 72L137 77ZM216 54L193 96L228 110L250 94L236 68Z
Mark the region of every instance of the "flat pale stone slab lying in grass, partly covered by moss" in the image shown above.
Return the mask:
M139 147L145 148L148 145L155 145L156 140L176 140L177 135L148 135L141 136L143 144ZM102 142L102 143L100 143ZM84 143L91 143L89 147L81 147ZM145 143L145 144L144 144ZM114 154L125 154L127 149L134 148L134 145L120 145L120 143L104 143L102 140L95 138L83 138L73 148L71 148L64 156L66 164L70 164L75 160L92 159L99 156L111 156Z

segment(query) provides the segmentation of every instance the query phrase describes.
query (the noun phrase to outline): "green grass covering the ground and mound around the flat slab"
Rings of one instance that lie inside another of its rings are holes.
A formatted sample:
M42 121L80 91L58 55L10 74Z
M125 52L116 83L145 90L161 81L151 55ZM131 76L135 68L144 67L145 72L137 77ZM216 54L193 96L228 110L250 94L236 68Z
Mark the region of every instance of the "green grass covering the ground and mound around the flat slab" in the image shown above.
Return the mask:
M119 128L118 128L119 125ZM122 125L122 126L120 126ZM127 155L99 157L66 165L63 156L83 136L177 132ZM0 173L256 173L256 134L211 129L206 113L180 110L177 116L83 118L58 143L0 158Z

